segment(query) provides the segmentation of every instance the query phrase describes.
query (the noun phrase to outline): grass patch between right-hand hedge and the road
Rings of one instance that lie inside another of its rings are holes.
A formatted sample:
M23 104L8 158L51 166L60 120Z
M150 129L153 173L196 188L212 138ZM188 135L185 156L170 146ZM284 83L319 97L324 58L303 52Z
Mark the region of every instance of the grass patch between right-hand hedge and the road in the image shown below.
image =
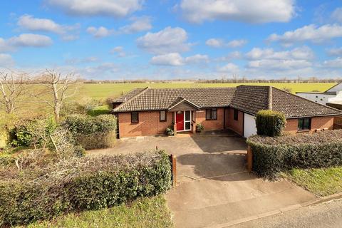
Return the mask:
M286 175L297 185L322 197L342 192L342 167L293 169Z

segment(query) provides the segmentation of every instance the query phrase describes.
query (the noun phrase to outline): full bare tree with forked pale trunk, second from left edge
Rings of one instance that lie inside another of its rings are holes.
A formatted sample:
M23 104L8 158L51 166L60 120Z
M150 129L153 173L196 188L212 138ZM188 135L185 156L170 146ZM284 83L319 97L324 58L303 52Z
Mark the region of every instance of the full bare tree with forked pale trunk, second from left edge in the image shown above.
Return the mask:
M53 108L55 119L58 121L66 99L75 95L78 90L75 74L68 73L63 76L61 73L47 69L37 81L46 89L41 93L34 94L34 96Z

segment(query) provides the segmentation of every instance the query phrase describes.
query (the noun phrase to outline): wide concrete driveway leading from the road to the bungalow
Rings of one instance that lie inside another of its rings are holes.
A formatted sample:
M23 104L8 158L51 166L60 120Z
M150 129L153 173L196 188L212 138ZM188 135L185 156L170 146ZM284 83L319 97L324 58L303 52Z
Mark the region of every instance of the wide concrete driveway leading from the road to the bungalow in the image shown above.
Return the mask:
M316 199L287 180L268 182L249 174L245 140L232 133L130 138L90 154L155 147L177 156L177 187L167 193L176 227L225 227Z

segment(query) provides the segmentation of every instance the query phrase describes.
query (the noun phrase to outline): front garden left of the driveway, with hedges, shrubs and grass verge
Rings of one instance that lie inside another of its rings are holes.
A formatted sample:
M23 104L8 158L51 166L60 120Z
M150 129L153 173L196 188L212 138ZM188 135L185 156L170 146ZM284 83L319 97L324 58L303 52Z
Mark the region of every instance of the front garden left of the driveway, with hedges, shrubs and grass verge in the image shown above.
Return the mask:
M115 144L114 115L75 111L58 122L39 115L5 129L0 227L93 227L94 217L97 227L172 226L161 195L171 186L164 151L85 156L85 149Z

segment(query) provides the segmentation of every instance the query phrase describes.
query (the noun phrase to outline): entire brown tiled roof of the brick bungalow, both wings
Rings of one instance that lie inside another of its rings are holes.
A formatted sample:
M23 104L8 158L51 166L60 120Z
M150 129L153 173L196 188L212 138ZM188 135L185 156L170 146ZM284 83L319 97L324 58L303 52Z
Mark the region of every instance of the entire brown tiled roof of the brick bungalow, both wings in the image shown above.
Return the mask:
M286 115L286 118L342 114L335 108L314 103L271 86L140 88L125 96L128 97L130 98L126 102L113 111L167 110L172 104L186 99L200 108L232 107L253 115L259 110L266 109L280 111ZM119 99L123 100L123 97Z

